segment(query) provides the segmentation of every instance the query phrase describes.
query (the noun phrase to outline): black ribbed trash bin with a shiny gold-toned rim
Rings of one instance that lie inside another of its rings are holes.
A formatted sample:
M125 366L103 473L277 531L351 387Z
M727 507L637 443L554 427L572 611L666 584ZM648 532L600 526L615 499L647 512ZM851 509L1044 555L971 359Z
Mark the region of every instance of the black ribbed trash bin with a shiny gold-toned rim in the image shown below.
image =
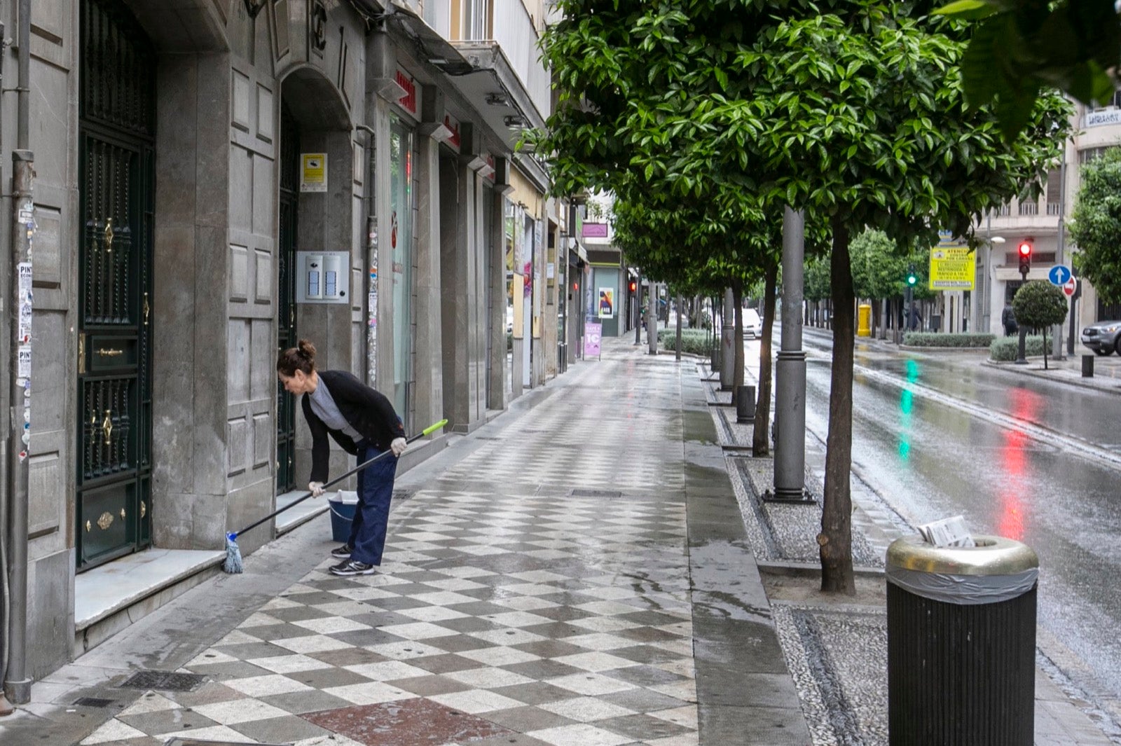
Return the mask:
M888 548L890 746L1032 746L1039 560L973 539Z

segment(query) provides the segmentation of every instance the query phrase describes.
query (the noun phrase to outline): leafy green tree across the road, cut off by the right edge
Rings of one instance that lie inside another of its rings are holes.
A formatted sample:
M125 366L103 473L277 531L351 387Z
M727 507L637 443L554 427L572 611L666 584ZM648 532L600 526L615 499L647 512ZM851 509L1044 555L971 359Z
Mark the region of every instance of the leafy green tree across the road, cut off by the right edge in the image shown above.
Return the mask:
M1067 230L1078 246L1078 274L1106 304L1121 302L1121 148L1110 148L1082 167ZM1017 317L1019 318L1019 317Z

